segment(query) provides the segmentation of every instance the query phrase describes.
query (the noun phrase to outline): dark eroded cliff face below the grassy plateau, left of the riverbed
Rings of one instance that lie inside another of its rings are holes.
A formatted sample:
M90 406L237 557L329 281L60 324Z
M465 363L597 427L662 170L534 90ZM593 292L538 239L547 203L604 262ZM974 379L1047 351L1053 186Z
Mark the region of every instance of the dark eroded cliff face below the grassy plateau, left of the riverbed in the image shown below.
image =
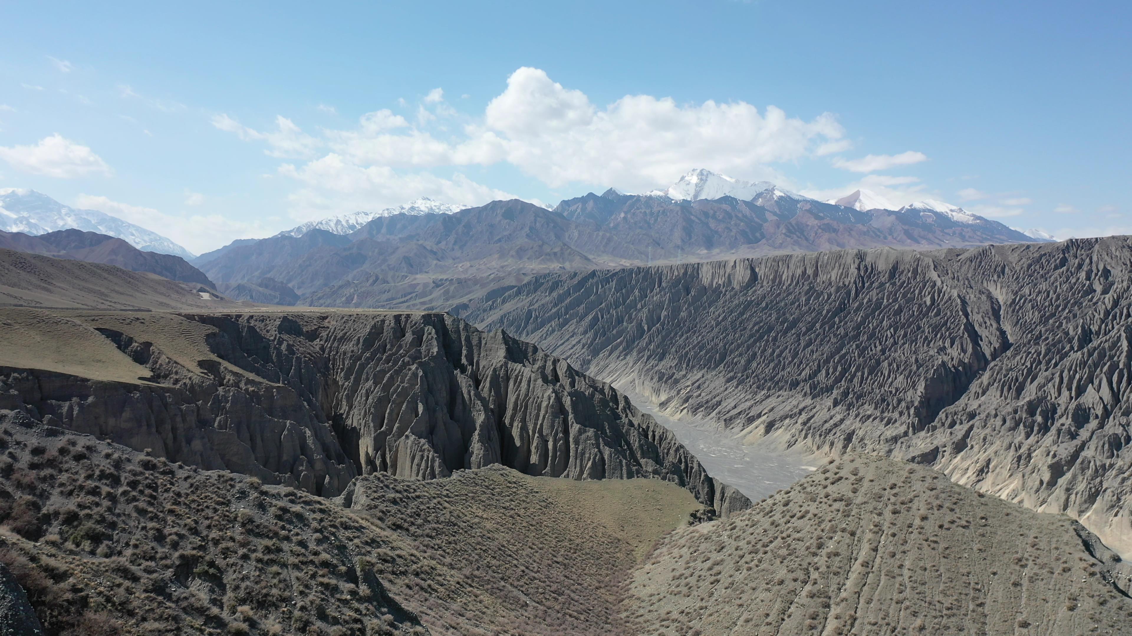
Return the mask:
M151 376L132 384L0 368L0 409L331 497L361 474L436 479L503 464L577 480L663 479L721 514L749 505L609 385L452 316L78 321Z

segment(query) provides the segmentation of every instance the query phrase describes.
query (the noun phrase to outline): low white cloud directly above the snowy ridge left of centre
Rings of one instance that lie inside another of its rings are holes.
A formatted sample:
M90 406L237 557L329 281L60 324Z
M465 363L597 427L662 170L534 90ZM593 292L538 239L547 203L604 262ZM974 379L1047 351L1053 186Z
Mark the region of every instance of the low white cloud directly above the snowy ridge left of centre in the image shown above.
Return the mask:
M466 205L516 198L461 173L451 179L429 172L398 173L387 166L360 166L335 153L300 167L284 164L278 172L302 184L289 197L291 215L300 222L346 210L381 209L417 197Z

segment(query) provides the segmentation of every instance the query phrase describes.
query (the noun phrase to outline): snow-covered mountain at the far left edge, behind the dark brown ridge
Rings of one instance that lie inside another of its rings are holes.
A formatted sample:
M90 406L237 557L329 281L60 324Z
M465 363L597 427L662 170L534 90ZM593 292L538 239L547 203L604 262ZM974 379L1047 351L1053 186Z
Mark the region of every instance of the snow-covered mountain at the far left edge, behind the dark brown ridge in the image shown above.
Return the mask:
M115 237L144 251L171 253L186 260L195 256L156 232L104 212L76 209L35 190L0 188L0 230L37 237L72 227Z

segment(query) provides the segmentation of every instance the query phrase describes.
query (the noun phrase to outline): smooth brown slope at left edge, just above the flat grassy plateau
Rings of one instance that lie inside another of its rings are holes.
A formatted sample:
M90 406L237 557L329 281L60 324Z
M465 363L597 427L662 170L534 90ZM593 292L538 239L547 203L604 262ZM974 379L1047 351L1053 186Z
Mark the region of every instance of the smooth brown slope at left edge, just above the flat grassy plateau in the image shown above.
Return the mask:
M220 309L241 303L203 293L199 284L170 281L113 265L0 249L0 306L96 309Z

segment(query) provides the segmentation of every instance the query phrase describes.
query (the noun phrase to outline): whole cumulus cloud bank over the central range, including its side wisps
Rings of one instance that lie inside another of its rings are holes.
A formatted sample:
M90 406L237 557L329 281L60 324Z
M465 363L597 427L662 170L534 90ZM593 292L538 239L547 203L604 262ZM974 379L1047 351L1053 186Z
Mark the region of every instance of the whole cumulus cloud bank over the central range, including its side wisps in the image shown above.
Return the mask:
M472 182L461 166L506 163L551 188L584 183L648 191L693 167L782 182L774 164L851 147L830 113L801 119L775 106L677 103L652 95L626 95L599 105L582 91L529 67L513 72L482 113L456 112L441 88L415 104L398 103L405 114L375 110L350 128L323 129L317 139L283 117L276 119L275 132L254 130L226 114L214 117L213 124L241 139L265 143L272 156L307 161L278 169L301 184L292 204L303 217L419 196L468 204L511 196ZM866 171L872 171L926 158L909 152L835 161L849 166L868 163ZM437 170L451 170L451 177L437 177ZM873 181L899 191L923 188L915 178L887 179Z

